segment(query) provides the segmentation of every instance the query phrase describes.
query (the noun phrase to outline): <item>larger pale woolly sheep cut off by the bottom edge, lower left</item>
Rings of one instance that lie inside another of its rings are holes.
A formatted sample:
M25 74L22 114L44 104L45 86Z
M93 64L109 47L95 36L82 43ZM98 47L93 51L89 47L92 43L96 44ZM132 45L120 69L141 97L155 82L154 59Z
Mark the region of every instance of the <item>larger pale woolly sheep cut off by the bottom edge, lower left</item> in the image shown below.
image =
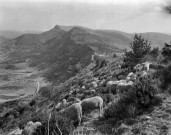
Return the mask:
M29 121L23 129L22 135L33 135L33 133L39 126L41 126L40 122L33 123L32 121Z

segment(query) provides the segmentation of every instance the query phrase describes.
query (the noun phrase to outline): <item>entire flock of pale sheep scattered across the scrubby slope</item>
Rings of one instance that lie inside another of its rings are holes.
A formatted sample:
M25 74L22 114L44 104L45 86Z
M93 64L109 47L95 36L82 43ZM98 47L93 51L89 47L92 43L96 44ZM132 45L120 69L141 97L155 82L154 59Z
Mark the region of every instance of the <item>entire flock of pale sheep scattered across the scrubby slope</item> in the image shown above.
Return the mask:
M118 80L118 81L108 81L107 89L109 89L109 93L120 95L121 93L130 89L137 79L147 77L150 68L155 69L156 67L164 68L164 66L161 65L155 66L150 62L137 64L134 67L134 72L129 73L125 79ZM53 108L53 110L58 110L63 105L69 106L65 109L57 111L57 114L65 114L67 117L73 120L74 123L77 123L77 126L81 124L82 115L85 112L89 112L94 109L99 109L99 116L102 115L103 99L100 96L85 98L81 101L78 98L70 97L72 93L73 91L70 92L69 97L66 97L67 101L65 98L63 98L62 101ZM92 94L95 93L95 90L89 90L89 91L85 90L84 93ZM37 128L37 126L40 125L41 123L39 122L37 124L36 123L34 124L33 122L27 123L27 125L23 130L23 134L25 133L25 135L31 135L34 132L34 130Z

